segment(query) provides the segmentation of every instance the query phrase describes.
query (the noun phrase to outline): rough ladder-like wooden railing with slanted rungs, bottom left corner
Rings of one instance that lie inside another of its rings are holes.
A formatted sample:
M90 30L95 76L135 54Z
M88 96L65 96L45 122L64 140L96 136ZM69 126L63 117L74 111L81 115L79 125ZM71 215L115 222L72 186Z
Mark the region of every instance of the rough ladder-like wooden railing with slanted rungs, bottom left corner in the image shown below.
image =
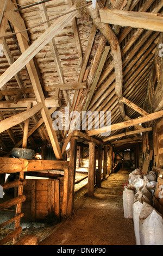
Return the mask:
M15 198L9 199L3 203L0 204L0 211L4 209L8 209L11 206L16 205L16 216L11 218L10 220L1 223L0 228L4 227L5 225L8 225L12 222L15 222L15 228L14 231L12 231L10 234L5 236L3 239L0 240L0 245L4 245L5 243L11 241L13 239L13 244L18 240L18 235L22 231L22 227L20 227L20 218L23 217L23 213L20 212L22 203L26 200L26 196L22 194L23 186L26 184L25 180L16 180L12 182L7 182L5 184L1 184L3 187L3 190L7 190L12 187L18 187L18 195ZM20 193L21 191L21 193ZM19 211L17 211L17 208L19 208Z

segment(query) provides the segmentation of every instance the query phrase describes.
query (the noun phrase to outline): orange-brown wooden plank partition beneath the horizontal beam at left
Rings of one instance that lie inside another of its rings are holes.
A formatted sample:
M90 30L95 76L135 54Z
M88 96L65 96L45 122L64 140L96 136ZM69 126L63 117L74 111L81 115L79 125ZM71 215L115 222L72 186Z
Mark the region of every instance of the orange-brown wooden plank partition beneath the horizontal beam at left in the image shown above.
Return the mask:
M53 218L60 221L62 179L26 179L26 202L22 204L24 219L30 221Z

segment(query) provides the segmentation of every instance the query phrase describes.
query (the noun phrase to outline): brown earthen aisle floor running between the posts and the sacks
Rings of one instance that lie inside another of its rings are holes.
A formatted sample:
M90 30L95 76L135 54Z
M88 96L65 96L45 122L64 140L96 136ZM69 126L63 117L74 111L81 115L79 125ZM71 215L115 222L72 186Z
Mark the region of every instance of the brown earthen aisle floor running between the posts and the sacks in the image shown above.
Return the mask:
M79 197L74 215L54 228L40 245L135 245L134 224L123 214L122 191L129 170L112 173L93 198Z

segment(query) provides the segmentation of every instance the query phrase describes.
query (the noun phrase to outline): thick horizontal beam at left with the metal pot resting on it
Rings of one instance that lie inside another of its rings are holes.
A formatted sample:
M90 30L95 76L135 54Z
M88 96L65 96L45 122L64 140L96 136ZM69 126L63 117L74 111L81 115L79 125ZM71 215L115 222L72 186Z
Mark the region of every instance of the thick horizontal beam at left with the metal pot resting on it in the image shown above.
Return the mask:
M26 163L26 165L25 165ZM28 165L27 165L28 164ZM26 168L24 169L24 166ZM24 160L11 157L0 157L0 174L16 172L35 172L41 170L64 170L68 161L60 160Z

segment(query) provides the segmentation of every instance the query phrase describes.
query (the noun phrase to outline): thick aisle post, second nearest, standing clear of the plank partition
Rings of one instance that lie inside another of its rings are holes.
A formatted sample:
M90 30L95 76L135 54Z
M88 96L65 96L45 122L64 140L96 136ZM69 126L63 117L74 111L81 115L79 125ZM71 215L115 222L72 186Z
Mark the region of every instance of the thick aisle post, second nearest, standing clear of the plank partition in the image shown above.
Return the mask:
M95 143L89 143L89 172L87 181L87 196L93 197L95 182Z

